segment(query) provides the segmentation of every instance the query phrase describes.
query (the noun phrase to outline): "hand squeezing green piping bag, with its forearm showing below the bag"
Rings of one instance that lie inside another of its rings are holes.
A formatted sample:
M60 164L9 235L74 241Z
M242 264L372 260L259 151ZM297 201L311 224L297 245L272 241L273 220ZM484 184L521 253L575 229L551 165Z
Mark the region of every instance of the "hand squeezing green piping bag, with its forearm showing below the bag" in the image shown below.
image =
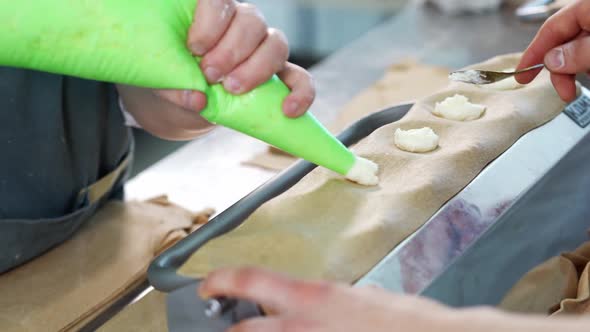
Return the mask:
M274 74L291 89L283 102L289 117L304 114L315 98L310 74L287 61L289 47L282 32L269 28L260 12L235 0L200 0L187 47L202 57L209 83L222 82L239 95ZM147 131L164 139L187 140L210 129L199 112L207 104L198 91L151 90L117 86L125 108Z

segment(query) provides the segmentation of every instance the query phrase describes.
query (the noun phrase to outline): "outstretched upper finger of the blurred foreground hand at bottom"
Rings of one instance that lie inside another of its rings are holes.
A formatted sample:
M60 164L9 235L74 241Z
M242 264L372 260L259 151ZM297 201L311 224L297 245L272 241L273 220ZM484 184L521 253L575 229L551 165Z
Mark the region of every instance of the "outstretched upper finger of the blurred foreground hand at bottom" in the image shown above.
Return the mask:
M276 314L297 311L299 306L324 296L317 286L254 268L213 272L199 287L203 298L225 296L254 302ZM326 288L327 289L327 288Z

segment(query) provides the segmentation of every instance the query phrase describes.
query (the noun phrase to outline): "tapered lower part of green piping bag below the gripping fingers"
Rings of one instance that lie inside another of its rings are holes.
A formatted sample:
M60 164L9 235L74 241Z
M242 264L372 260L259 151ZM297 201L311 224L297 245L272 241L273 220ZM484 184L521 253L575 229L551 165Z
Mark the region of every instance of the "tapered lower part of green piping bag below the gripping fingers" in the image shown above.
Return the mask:
M285 116L282 105L288 94L289 89L276 76L240 96L218 84L207 91L208 105L201 115L346 176L356 164L356 156L311 113L298 118Z

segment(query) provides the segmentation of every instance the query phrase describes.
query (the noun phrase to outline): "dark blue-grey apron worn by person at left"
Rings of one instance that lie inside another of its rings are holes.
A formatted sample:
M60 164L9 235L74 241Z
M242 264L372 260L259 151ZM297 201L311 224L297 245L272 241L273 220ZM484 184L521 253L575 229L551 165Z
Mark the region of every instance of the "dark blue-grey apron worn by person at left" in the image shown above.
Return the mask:
M0 274L122 197L132 138L106 83L0 67Z

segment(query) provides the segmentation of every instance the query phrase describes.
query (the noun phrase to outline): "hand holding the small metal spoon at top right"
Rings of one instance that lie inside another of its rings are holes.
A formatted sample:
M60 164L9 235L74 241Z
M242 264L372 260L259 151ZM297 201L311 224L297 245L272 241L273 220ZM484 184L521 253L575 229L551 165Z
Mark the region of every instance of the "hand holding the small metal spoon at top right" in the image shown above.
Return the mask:
M565 101L576 98L575 74L590 70L590 1L578 0L545 22L525 51L518 69L545 63L551 81ZM538 71L517 77L532 81Z

